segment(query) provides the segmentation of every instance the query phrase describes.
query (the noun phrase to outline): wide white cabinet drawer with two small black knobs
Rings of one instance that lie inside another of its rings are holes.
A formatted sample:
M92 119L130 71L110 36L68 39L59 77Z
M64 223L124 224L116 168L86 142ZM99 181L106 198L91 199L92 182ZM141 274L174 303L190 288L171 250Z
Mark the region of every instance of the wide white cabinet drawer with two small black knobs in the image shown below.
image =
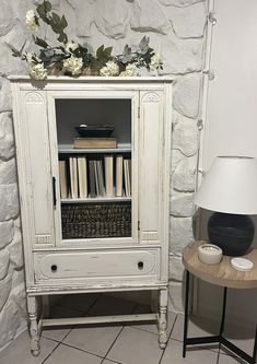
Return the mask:
M36 280L157 278L159 249L35 254Z

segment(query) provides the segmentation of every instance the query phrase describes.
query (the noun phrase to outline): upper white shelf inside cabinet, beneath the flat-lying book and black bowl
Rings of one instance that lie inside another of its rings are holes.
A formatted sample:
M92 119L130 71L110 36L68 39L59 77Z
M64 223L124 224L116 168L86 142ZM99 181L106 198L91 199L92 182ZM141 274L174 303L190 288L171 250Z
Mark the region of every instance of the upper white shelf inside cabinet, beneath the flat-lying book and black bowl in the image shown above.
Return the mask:
M60 154L96 154L96 153L130 153L131 152L131 144L118 144L118 148L112 149L75 149L72 144L60 144L58 145L58 152Z

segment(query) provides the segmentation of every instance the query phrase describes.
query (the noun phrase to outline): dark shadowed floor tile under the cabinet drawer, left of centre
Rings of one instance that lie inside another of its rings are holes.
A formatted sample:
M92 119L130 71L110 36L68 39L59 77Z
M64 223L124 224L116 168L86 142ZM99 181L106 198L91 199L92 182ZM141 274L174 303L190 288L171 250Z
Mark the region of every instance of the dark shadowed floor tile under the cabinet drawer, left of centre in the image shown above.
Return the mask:
M100 294L96 293L62 295L56 305L85 313L98 297Z

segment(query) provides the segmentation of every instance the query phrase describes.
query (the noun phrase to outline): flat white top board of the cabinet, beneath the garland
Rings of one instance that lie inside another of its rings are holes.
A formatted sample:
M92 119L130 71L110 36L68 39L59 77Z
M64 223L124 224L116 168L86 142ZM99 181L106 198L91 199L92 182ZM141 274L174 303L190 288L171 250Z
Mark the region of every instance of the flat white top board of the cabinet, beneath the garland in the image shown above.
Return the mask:
M31 82L34 84L47 84L52 82L69 82L69 83L140 83L140 82L150 82L150 83L162 83L162 82L173 82L174 78L172 77L55 77L50 75L46 80L33 80L30 75L10 75L8 78L11 82Z

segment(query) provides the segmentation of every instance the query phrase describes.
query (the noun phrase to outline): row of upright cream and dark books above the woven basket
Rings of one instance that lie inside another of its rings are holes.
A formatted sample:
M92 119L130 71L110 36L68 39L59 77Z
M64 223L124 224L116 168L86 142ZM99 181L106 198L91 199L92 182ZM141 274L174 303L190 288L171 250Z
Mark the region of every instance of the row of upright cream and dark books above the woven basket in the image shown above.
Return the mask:
M121 154L70 156L59 161L59 181L61 199L130 197L131 158Z

